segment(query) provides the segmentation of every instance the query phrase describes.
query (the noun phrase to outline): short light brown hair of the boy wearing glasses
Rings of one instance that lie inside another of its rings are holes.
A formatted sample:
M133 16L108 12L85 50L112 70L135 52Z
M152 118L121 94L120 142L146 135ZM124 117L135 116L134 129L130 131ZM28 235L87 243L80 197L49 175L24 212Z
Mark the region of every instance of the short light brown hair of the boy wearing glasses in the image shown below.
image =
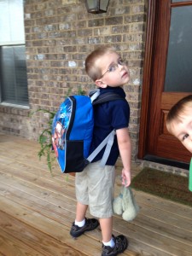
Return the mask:
M110 46L101 46L90 53L85 59L85 71L89 75L90 79L94 82L96 79L100 79L102 77L102 70L98 65L96 65L96 61L102 57L102 55L116 52Z

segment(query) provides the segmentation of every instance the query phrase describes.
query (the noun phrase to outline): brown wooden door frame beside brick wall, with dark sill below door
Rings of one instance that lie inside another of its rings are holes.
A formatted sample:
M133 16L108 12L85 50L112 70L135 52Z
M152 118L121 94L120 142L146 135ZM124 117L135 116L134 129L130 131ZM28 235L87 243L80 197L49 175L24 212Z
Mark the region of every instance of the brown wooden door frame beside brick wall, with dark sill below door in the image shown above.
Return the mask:
M191 1L189 1L191 3ZM184 5L188 5L186 3ZM166 3L166 8L170 5L171 9L171 1ZM174 4L175 5L175 4ZM177 3L176 5L180 5ZM150 92L153 88L151 88L153 84L153 76L154 76L154 56L155 56L155 45L157 42L157 34L158 22L159 19L159 11L160 3L158 0L149 0L148 1L148 20L147 20L147 32L146 32L146 43L145 43L145 57L144 57L144 65L143 65L143 94L142 94L142 108L141 108L141 119L140 119L140 131L139 131L139 143L138 143L138 159L141 160L150 160L160 164L166 164L168 166L177 166L184 169L189 169L189 164L179 162L178 160L169 160L166 158L161 158L157 155L148 154L148 120L150 119L150 106L151 106L151 97ZM166 32L169 31L170 22L171 22L171 13L170 16L166 16L168 19L166 21L166 26L164 25L164 29ZM161 27L162 29L162 27ZM165 42L162 42L164 44ZM164 54L167 53L168 44L164 44ZM161 78L162 79L162 78ZM159 91L160 93L160 91ZM158 120L159 121L159 120Z

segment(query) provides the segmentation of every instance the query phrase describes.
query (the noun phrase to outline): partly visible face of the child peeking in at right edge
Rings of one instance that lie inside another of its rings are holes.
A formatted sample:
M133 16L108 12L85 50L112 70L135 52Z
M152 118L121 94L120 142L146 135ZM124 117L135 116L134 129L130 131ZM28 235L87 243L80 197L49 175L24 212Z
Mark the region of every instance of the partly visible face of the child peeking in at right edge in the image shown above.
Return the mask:
M180 119L172 123L172 134L192 153L192 108L185 107Z

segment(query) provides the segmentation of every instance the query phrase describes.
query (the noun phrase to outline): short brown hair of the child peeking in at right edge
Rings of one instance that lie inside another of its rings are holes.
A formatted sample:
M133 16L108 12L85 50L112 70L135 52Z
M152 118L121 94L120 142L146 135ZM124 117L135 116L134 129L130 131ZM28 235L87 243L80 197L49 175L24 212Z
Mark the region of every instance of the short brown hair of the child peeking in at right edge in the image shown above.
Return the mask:
M172 122L179 123L181 121L181 113L183 113L186 107L192 108L192 95L184 97L170 109L166 117L166 128L170 133L172 133Z

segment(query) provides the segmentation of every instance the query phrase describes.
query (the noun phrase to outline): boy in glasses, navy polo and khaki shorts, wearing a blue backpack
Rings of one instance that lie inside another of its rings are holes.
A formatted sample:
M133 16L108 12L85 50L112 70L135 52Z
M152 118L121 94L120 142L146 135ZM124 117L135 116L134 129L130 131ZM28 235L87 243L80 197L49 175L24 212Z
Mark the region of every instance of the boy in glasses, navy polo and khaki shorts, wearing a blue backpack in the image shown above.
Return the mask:
M100 88L101 94L108 91L125 98L123 84L129 82L128 67L112 48L101 47L94 50L85 60L85 70ZM123 162L122 184L131 184L131 139L128 132L130 108L125 100L115 100L94 106L94 133L90 153L116 130L113 147L105 167L100 167L104 148L83 172L76 173L77 210L71 236L81 236L84 231L102 230L102 256L118 255L128 247L125 236L113 236L113 187L115 181L115 162L121 156ZM85 218L88 205L90 214L99 218Z

